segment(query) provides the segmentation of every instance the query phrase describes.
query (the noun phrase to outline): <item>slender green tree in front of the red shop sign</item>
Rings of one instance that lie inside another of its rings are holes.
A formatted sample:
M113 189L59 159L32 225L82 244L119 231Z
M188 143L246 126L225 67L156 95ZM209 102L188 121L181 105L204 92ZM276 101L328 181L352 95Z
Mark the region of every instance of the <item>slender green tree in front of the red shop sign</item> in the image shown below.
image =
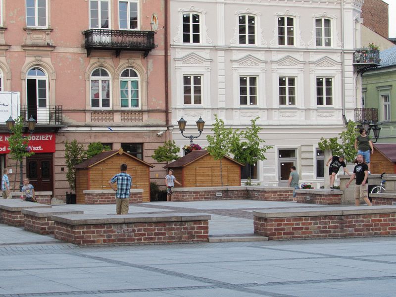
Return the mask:
M34 154L34 152L29 151L28 137L23 136L23 126L23 117L20 116L16 119L15 125L12 127L11 134L8 138L10 150L9 156L11 159L16 160L14 190L16 189L16 173L18 170L18 162L22 162L24 157L29 157Z

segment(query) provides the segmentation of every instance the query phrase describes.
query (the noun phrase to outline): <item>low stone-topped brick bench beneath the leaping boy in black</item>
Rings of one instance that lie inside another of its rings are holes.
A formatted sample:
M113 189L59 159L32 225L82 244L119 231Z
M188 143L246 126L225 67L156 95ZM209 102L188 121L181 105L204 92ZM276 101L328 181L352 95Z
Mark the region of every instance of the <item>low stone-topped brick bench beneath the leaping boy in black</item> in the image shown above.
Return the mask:
M343 192L331 189L296 190L297 203L341 204Z

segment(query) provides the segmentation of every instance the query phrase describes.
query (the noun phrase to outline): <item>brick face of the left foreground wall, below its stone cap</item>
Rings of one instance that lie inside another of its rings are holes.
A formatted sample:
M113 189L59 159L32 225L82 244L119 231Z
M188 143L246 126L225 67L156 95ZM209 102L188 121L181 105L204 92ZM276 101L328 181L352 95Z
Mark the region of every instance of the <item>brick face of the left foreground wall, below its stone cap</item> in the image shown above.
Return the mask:
M76 245L207 242L207 220L69 225L55 221L56 239Z

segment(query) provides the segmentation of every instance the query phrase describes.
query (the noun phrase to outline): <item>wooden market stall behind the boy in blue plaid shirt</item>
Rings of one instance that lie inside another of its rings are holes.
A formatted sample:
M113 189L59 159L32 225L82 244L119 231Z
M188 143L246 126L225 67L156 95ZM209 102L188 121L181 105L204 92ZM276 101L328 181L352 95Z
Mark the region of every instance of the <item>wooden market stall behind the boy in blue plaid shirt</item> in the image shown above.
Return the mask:
M84 190L110 190L109 180L120 172L120 165L128 165L132 189L143 189L143 202L150 201L151 164L119 150L103 151L74 166L76 169L76 202L85 203Z

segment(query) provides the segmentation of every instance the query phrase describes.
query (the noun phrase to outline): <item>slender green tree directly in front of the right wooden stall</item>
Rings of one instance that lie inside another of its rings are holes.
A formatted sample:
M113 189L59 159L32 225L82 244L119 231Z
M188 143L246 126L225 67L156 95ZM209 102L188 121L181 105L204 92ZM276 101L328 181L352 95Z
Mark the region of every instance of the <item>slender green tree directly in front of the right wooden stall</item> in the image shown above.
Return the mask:
M215 122L213 124L213 135L207 135L206 140L209 145L206 150L215 159L220 160L220 181L223 186L223 165L222 159L231 153L232 145L239 141L238 130L232 128L226 128L224 121L214 115Z

